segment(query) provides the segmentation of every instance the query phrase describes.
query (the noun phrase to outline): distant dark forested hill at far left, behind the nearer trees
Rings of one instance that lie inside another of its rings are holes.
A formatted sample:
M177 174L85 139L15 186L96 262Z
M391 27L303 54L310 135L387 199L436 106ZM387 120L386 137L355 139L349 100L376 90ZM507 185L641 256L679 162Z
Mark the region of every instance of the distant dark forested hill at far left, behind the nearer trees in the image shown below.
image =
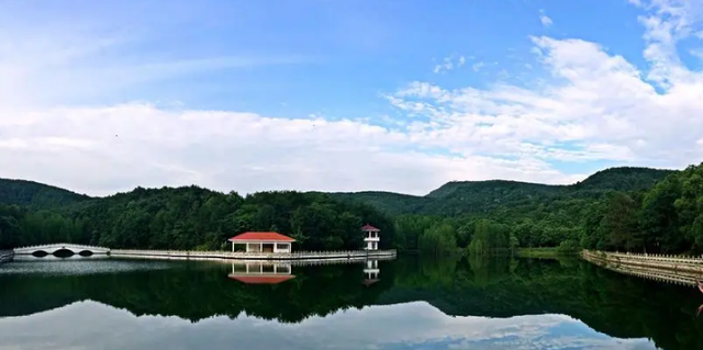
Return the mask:
M31 208L51 208L89 200L53 185L25 180L0 179L0 204L21 205Z

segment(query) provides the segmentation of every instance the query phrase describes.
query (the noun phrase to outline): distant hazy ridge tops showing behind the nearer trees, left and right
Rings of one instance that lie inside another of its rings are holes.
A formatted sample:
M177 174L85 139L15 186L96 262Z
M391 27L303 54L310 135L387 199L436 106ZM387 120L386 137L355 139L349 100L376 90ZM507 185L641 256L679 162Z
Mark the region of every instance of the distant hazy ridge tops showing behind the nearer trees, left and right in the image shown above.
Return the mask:
M391 191L357 191L357 192L323 192L306 191L304 193L327 194L333 199L344 202L360 202L372 205L388 214L439 214L440 210L433 206L432 202L440 200L449 201L446 204L454 206L477 206L495 204L506 204L518 199L529 199L534 196L570 195L581 191L588 195L601 194L610 190L614 191L639 191L651 188L657 181L679 170L655 169L647 167L612 167L599 170L582 181L572 184L547 184L538 182L525 182L516 180L454 180L444 183L425 195L413 195ZM191 185L175 187L172 189L189 188ZM161 187L161 189L169 187ZM145 189L136 187L134 190L125 192L138 192ZM212 191L212 190L211 190ZM217 192L217 191L214 191ZM32 180L3 179L0 178L0 204L20 205L31 208L51 208L76 204L88 200L101 200L125 194L116 192L108 196L90 196L79 194L68 189L56 185L44 184ZM469 199L483 196L487 200L477 203ZM455 213L458 214L458 213Z

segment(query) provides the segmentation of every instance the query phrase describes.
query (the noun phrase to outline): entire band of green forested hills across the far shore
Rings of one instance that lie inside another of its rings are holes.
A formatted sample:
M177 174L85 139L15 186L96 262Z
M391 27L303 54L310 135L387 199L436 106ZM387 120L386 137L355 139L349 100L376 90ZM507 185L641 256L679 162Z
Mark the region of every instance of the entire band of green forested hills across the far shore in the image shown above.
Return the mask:
M558 247L703 251L703 165L683 171L612 168L571 185L449 182L425 196L388 192L260 192L198 187L89 197L0 181L0 249L49 241L112 248L222 249L246 230L294 237L298 250L358 249L359 227L381 248L472 255Z

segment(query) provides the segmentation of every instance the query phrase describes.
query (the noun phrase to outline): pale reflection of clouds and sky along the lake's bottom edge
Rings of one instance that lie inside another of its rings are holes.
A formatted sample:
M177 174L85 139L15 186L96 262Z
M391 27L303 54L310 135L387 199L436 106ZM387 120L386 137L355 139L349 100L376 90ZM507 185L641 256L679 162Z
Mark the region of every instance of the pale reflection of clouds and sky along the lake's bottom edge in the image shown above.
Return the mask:
M610 338L568 316L449 317L426 303L350 309L283 325L244 315L197 324L175 317L137 318L85 302L0 319L0 339L8 350L656 349L644 339Z

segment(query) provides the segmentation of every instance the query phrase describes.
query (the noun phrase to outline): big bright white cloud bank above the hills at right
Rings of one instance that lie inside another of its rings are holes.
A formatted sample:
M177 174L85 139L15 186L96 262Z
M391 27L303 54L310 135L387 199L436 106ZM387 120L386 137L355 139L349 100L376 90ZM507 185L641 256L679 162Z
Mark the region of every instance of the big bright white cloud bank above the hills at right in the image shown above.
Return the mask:
M533 41L555 78L543 89L498 84L444 90L415 82L402 90L397 105L423 103L423 110L433 113L428 122L415 123L415 133L465 155L666 167L682 167L703 156L691 148L703 134L700 72L674 66L678 78L658 93L635 66L594 43Z

